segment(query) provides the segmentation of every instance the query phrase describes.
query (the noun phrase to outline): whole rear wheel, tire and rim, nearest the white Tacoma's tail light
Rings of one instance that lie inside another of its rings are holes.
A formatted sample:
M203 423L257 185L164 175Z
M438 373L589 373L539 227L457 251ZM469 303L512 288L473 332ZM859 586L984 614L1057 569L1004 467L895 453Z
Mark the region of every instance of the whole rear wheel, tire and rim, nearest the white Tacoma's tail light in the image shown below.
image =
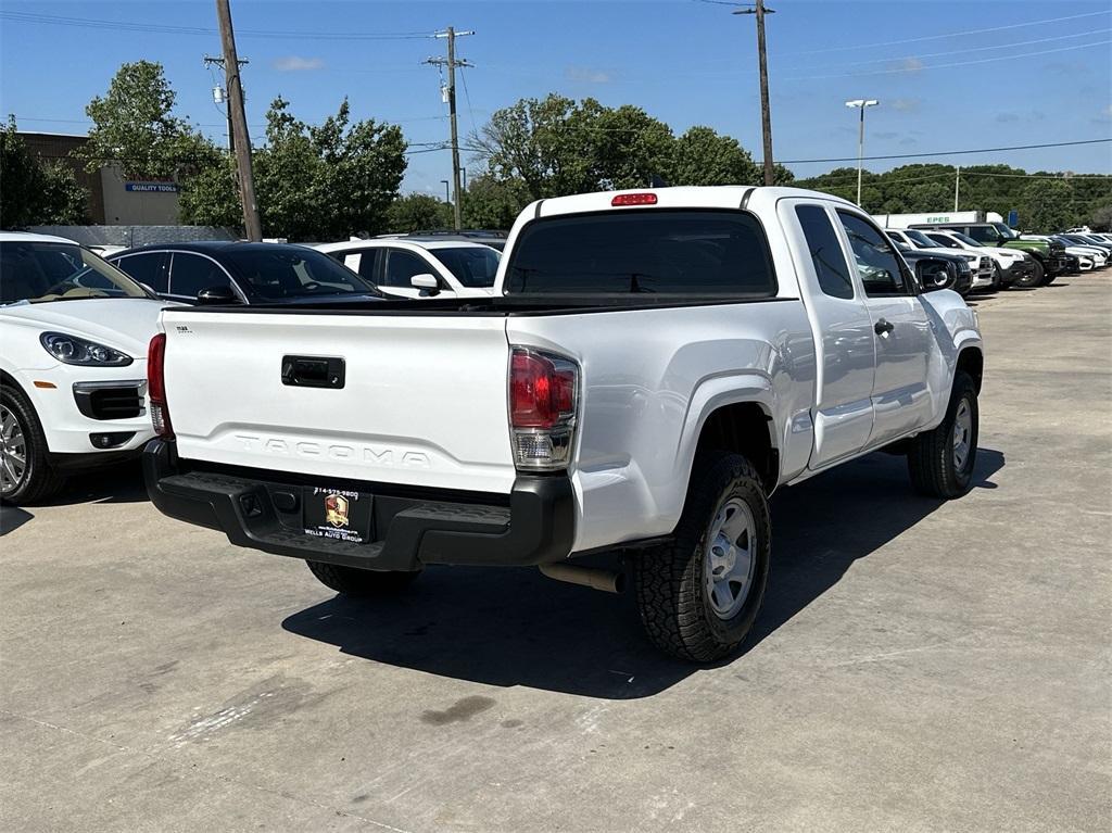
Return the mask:
M698 663L737 648L764 598L771 533L752 464L726 452L701 458L672 541L636 562L637 608L649 639Z

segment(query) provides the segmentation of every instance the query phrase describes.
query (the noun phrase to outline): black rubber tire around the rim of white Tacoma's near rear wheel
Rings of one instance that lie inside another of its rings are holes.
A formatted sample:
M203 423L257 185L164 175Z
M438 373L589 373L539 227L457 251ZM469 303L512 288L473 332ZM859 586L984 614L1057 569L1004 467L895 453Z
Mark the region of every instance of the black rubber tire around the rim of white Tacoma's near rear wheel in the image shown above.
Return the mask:
M719 512L737 499L748 507L754 522L753 567L741 607L722 618L707 589L706 536ZM648 638L665 653L689 662L714 662L733 653L748 635L764 599L771 538L768 503L752 464L727 452L701 457L672 541L634 563L637 609Z

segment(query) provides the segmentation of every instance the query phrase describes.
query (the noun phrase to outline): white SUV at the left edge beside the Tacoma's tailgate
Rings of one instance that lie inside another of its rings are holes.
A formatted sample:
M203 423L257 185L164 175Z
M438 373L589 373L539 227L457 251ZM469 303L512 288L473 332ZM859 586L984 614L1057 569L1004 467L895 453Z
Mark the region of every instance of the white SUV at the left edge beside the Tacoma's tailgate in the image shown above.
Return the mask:
M67 474L138 456L165 306L72 240L0 232L0 499L42 500Z

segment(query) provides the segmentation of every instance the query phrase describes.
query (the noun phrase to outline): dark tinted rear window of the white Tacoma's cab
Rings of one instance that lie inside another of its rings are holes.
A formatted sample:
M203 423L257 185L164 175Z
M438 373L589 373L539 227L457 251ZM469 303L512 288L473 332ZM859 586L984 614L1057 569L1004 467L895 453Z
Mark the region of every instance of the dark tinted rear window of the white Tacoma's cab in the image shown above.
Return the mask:
M534 220L518 234L505 285L514 295L776 294L764 230L741 210L645 209Z

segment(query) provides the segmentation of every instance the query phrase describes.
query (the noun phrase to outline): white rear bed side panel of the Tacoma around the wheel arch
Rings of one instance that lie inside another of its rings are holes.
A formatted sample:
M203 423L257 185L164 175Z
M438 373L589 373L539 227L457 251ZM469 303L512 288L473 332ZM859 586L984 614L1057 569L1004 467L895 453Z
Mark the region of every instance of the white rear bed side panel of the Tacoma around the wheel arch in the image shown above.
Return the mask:
M806 465L814 343L798 300L519 316L507 335L583 368L576 551L671 533L699 430L723 405L759 403L782 468Z

